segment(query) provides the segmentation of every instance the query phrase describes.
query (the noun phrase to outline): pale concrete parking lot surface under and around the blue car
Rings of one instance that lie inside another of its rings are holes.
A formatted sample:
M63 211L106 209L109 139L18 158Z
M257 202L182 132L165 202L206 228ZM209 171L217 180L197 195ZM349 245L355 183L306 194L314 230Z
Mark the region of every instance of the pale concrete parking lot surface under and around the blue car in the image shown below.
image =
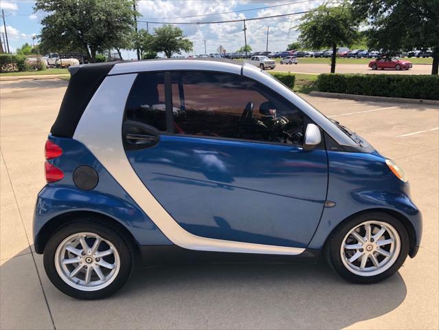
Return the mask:
M145 267L106 300L69 298L32 248L43 147L67 82L0 83L1 329L438 329L439 107L306 97L406 171L423 212L418 256L383 283L325 263Z

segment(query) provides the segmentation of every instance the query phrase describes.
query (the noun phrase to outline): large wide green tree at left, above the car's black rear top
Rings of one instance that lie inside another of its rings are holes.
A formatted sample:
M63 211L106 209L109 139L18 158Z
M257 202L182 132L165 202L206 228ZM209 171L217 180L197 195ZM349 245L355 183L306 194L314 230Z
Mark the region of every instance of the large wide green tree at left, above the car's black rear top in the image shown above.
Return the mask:
M133 32L132 0L36 0L43 10L41 41L52 51L82 50L91 62L98 52L124 45Z

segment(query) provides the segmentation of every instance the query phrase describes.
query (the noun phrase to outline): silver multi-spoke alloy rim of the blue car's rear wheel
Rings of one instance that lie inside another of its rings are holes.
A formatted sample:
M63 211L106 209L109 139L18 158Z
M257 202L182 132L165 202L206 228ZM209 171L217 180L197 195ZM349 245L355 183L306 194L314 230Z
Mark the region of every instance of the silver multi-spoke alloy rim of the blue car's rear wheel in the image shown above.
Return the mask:
M120 271L115 246L92 232L79 232L58 245L55 267L60 278L81 291L108 287Z

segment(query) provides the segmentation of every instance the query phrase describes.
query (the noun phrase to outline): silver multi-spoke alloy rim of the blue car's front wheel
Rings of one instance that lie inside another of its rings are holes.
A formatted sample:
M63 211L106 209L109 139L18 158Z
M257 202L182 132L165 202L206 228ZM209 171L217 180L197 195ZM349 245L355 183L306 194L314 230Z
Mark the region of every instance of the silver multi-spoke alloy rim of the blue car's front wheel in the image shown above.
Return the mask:
M401 239L396 229L381 221L365 221L352 228L341 243L341 261L350 272L374 276L398 259Z

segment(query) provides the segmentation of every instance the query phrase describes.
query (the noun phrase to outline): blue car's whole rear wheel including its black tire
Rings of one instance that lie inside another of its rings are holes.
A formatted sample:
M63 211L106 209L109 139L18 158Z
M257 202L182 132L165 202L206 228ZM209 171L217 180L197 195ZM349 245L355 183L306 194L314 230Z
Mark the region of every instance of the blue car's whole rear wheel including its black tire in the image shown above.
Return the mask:
M87 253L80 241L71 242L76 236L78 239L84 237L86 245L89 246ZM90 254L93 248L90 245L95 245L98 238L100 243L95 249L95 254ZM78 249L79 247L81 248ZM96 257L99 252L102 256ZM111 253L108 254L109 252ZM43 262L47 277L61 292L74 298L92 300L111 296L126 283L131 274L134 255L133 245L128 238L120 234L120 230L112 228L108 223L78 219L61 227L52 235L45 247ZM66 257L68 259L65 259ZM77 265L64 264L78 258L80 263ZM71 276L77 268L80 270ZM104 279L96 268L99 268ZM89 283L86 284L89 272Z

